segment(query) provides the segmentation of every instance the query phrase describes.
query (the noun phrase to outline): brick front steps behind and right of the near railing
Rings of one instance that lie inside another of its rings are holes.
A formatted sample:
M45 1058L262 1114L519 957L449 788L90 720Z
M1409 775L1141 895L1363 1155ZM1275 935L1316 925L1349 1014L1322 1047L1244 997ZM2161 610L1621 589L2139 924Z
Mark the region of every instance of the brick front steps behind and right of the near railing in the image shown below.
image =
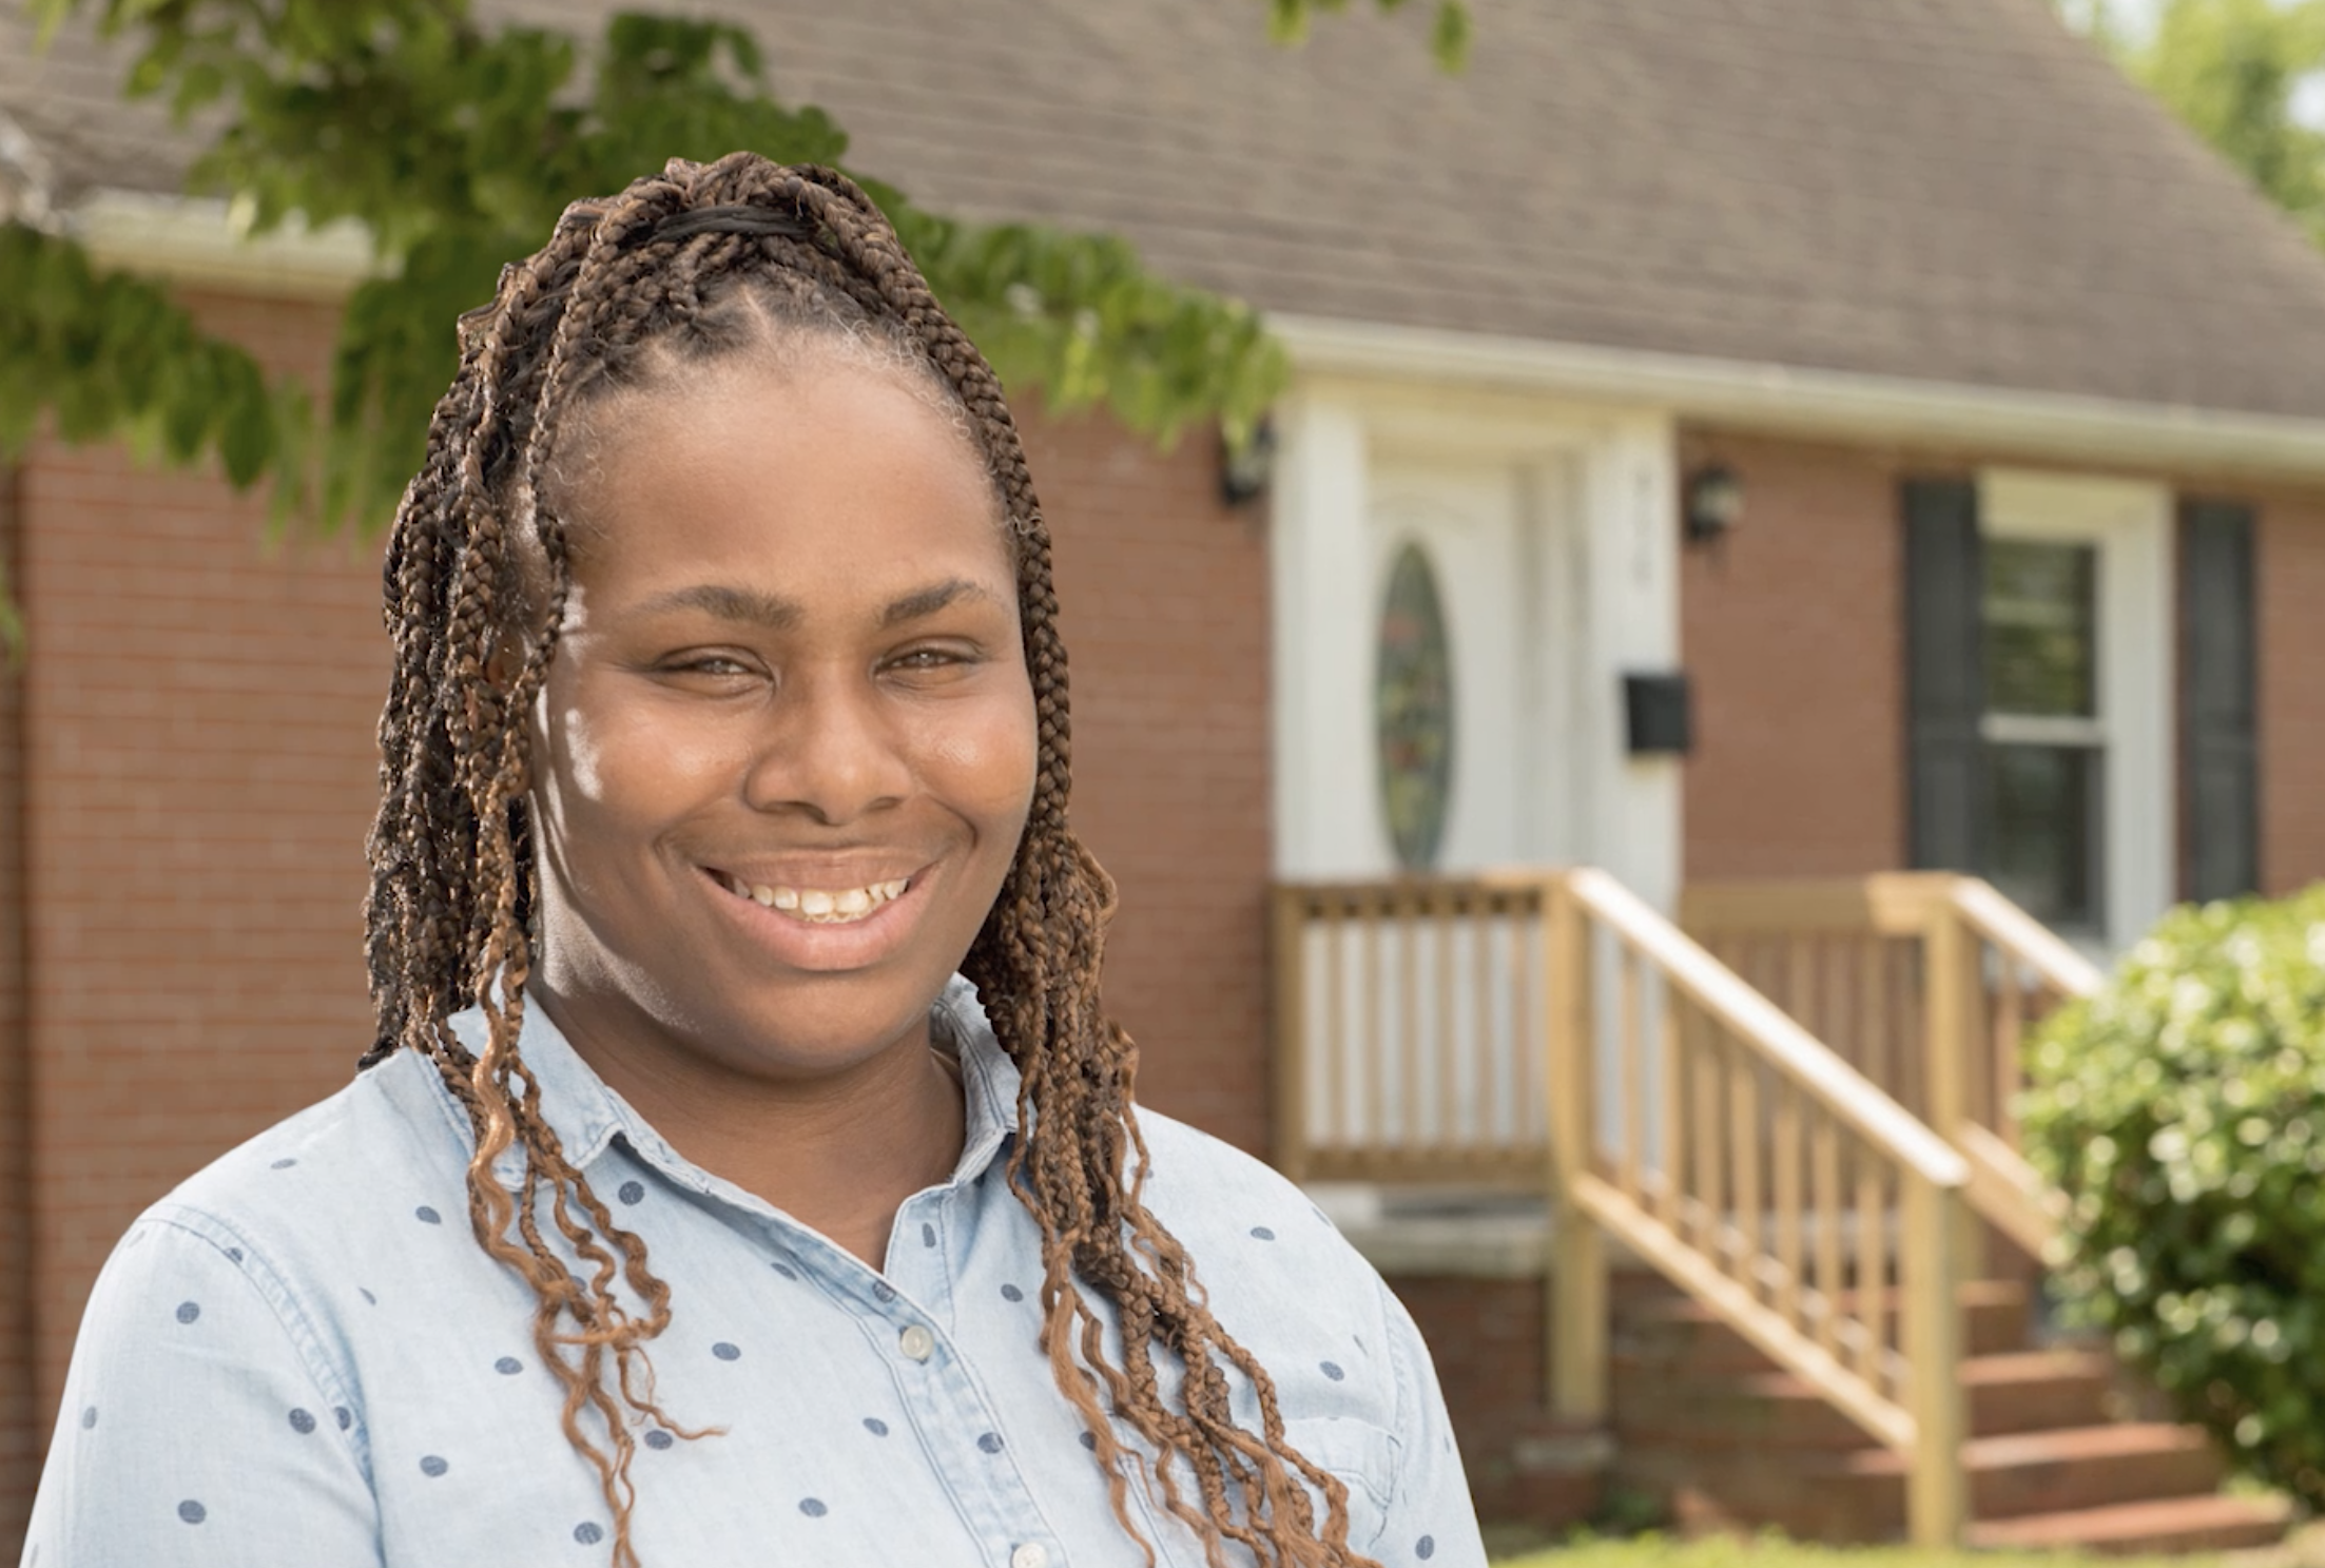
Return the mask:
M1974 1547L2218 1552L2278 1540L2274 1496L2223 1496L2192 1426L2141 1419L2116 1361L2030 1340L2023 1284L1960 1289L1962 1466ZM1886 1540L1907 1528L1904 1463L1709 1307L1665 1293L1616 1314L1616 1482L1672 1501L1688 1531Z

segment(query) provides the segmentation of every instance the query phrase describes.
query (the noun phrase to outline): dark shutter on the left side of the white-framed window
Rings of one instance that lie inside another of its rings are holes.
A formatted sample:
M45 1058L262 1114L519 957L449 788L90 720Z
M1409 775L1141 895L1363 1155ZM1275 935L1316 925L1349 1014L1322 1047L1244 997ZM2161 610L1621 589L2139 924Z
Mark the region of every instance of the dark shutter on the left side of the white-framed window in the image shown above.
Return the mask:
M1907 479L1907 819L1916 868L1979 870L1983 598L1976 482Z

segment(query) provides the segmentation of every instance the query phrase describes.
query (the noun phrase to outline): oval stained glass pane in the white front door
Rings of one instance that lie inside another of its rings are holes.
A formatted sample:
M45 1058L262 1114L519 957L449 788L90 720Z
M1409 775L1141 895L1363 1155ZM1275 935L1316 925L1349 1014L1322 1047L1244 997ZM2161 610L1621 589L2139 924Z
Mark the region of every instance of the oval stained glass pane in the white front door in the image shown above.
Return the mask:
M1372 686L1381 817L1404 870L1428 870L1453 793L1453 644L1437 572L1416 542L1388 565Z

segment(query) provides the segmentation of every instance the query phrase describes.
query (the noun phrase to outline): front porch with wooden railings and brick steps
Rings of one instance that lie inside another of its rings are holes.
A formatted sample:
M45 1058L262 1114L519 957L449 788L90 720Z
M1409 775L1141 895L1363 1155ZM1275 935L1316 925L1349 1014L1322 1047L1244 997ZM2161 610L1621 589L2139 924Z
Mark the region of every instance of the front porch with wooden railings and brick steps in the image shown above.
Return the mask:
M1988 884L1695 886L1676 924L1597 870L1286 884L1272 961L1279 1163L1541 1193L1548 1431L1681 1524L2281 1533L2104 1356L2030 1340L2062 1198L2020 1040L2099 977Z

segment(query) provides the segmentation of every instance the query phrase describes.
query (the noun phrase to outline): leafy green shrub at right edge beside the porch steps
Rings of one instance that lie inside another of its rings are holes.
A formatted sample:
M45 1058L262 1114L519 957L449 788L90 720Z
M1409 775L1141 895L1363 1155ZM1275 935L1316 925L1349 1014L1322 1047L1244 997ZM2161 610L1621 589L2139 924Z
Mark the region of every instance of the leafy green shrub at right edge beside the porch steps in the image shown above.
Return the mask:
M2069 1310L2325 1503L2325 886L2174 910L2030 1052Z

